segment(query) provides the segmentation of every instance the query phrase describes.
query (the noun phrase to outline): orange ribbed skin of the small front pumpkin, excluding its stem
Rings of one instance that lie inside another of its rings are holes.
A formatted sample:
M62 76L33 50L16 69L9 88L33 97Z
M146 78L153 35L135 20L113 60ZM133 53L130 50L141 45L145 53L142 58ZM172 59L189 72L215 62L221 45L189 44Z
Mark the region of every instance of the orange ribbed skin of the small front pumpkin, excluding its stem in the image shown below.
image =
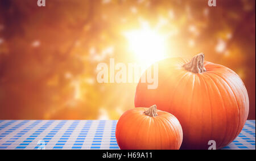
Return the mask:
M121 150L178 150L183 139L181 125L168 112L156 110L158 116L143 112L148 108L134 108L119 118L115 130Z

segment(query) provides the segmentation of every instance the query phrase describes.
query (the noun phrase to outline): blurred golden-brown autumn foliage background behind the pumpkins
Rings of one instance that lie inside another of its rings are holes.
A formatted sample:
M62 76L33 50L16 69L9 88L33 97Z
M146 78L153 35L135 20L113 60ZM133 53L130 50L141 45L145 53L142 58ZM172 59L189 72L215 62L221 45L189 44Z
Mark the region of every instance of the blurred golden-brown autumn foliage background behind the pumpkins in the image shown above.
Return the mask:
M98 63L201 52L240 75L255 119L255 0L0 0L0 119L118 119L137 84L98 83Z

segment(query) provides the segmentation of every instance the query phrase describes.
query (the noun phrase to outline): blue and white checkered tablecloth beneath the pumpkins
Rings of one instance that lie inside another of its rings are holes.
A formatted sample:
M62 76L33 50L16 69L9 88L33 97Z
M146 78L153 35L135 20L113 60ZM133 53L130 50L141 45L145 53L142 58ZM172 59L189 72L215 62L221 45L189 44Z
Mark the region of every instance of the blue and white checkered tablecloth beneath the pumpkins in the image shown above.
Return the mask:
M117 120L0 120L1 149L119 149ZM255 120L223 149L255 149Z

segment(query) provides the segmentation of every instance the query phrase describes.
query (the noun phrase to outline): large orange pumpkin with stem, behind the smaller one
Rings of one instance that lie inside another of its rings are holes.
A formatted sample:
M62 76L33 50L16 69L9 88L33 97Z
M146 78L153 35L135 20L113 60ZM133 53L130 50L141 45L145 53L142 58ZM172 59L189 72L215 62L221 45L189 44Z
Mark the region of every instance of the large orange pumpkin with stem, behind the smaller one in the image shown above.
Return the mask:
M147 83L138 83L135 107L154 103L177 117L184 135L181 149L208 149L210 140L221 149L240 134L249 99L234 71L204 62L204 54L191 61L168 58L158 66L158 88L148 90Z

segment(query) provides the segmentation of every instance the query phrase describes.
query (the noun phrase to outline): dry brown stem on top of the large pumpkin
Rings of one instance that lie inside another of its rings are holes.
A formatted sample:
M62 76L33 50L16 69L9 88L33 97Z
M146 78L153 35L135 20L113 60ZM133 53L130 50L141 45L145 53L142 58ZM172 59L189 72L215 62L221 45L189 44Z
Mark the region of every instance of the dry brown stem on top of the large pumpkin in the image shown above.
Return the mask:
M193 73L205 72L206 69L204 67L204 54L203 53L197 54L192 58L192 60L189 63L184 64L183 67L186 70L191 71Z

